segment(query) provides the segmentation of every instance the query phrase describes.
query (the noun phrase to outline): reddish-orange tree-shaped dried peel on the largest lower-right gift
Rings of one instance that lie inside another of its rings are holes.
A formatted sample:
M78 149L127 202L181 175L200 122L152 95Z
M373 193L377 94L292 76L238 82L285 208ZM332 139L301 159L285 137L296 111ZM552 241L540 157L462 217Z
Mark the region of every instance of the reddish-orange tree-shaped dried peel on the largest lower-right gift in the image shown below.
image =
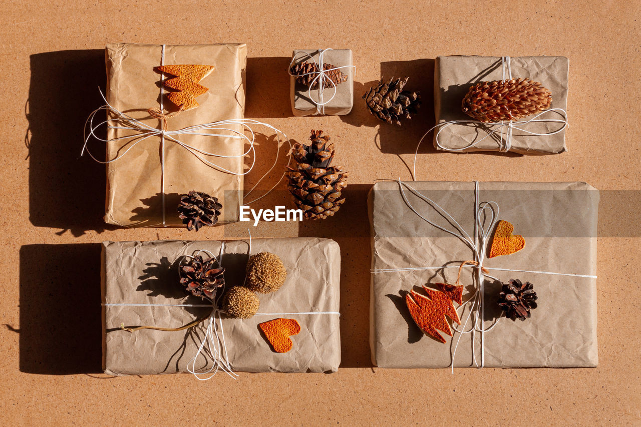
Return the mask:
M445 342L445 339L438 331L443 331L450 337L452 336L452 330L445 316L452 319L456 324L461 324L461 319L458 317L453 301L458 304L463 303L463 286L449 285L447 283L435 283L435 286L440 289L440 292L423 286L423 290L428 296L421 295L412 289L406 294L405 303L408 310L410 310L412 319L420 330L440 342Z

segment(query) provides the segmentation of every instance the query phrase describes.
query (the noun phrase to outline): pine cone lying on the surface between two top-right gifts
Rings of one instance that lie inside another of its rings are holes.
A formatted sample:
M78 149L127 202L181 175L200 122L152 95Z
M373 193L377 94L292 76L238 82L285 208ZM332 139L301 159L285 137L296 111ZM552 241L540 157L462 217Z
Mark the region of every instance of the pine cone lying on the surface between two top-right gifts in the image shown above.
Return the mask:
M392 77L387 83L381 80L371 87L363 95L369 112L391 124L400 125L401 117L412 119L410 113L415 114L420 106L420 93L403 90L407 80L407 77L396 80Z

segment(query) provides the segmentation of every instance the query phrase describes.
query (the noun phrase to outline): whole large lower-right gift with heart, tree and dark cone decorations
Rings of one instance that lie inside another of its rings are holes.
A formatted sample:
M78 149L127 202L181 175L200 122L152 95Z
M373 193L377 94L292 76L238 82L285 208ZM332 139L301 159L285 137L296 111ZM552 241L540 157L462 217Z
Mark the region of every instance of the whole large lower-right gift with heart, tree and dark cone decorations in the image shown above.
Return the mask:
M376 183L372 362L596 366L598 202L578 182Z

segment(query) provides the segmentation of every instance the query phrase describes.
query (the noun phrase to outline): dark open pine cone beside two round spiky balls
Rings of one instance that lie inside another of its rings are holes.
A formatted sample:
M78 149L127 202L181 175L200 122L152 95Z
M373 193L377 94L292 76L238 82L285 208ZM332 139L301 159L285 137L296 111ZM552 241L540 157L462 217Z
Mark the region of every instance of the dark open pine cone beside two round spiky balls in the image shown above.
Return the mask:
M215 258L203 260L202 256L195 255L180 266L180 283L195 296L213 299L216 290L225 285L224 272Z

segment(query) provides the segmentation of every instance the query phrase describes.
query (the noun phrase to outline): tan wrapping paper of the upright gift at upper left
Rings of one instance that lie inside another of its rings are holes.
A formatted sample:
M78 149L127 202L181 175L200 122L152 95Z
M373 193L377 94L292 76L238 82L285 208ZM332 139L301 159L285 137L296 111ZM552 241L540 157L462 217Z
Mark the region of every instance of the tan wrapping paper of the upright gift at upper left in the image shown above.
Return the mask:
M245 44L210 44L165 46L165 65L213 65L215 70L200 81L209 90L197 97L199 106L168 119L169 130L227 119L242 119L245 109ZM114 107L145 124L159 127L157 119L146 110L160 106L160 81L153 71L160 65L162 46L150 44L109 44L106 47L107 101ZM167 90L165 90L165 96ZM172 108L164 100L165 108ZM141 110L142 111L135 111ZM171 110L170 110L171 111ZM115 126L116 122L110 122ZM238 125L228 126L242 131ZM221 133L221 132L219 132ZM227 131L229 135L231 132ZM134 135L130 130L108 130L107 158L113 159L129 147L128 140L114 140ZM209 153L233 158L206 156L212 163L229 171L243 172L244 142L237 138L179 135L178 140ZM161 142L150 137L129 150L126 155L107 164L107 199L104 220L119 226L162 226ZM184 147L165 142L165 223L181 226L176 213L180 194L190 190L206 192L223 203L219 223L238 221L238 206L243 187L242 176L214 169L201 162ZM225 197L227 196L227 197Z

